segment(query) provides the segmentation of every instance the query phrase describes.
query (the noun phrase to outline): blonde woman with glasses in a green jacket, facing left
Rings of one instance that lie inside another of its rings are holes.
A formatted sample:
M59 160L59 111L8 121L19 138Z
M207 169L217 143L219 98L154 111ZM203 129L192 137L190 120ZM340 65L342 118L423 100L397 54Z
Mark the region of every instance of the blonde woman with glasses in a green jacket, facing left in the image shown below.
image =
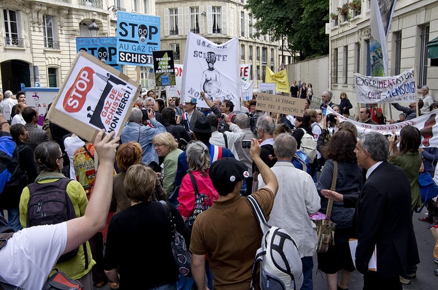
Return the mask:
M178 143L171 133L159 133L152 140L158 157L164 158L162 164L163 188L167 196L172 194L175 189L175 176L177 175L178 157L183 150L178 148Z

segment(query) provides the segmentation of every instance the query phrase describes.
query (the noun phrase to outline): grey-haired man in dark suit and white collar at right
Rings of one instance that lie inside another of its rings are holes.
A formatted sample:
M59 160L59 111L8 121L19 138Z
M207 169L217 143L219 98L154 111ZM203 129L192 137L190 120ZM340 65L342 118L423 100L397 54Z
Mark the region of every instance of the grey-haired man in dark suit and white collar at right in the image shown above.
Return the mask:
M356 205L356 268L363 289L402 289L399 276L420 263L411 216L411 186L404 171L387 162L389 141L381 133L362 135L355 153L367 171ZM389 181L397 181L390 183ZM376 246L377 269L368 270Z

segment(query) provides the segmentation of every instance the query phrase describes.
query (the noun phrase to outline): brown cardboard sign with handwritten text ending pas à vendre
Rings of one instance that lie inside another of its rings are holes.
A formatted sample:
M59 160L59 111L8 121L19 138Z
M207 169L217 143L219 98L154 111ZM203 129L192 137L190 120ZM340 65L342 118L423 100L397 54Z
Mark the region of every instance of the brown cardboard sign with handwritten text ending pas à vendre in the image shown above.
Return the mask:
M279 94L259 92L255 109L301 117L304 114L305 104L306 100L304 98L291 98L289 96L280 96Z

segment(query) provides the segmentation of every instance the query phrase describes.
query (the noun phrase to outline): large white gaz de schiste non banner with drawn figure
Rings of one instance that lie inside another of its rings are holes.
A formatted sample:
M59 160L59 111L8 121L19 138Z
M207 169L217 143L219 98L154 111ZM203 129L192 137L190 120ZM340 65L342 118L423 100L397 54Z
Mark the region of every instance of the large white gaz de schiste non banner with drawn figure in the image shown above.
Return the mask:
M181 101L185 97L198 99L198 107L208 107L200 92L213 101L230 100L240 107L240 64L238 40L216 44L189 31L185 47Z

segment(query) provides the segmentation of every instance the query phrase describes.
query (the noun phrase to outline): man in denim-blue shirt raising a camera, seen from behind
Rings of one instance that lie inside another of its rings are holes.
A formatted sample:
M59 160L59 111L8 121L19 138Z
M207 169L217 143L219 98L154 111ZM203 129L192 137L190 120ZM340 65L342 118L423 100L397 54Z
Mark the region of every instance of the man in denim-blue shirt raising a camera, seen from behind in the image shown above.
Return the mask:
M140 143L143 150L142 162L159 172L161 168L159 168L158 155L153 147L152 140L155 135L166 132L166 128L155 120L153 109L146 109L146 114L148 120L144 123L142 110L136 107L132 108L128 124L123 128L120 140L122 140L122 143L130 141Z

